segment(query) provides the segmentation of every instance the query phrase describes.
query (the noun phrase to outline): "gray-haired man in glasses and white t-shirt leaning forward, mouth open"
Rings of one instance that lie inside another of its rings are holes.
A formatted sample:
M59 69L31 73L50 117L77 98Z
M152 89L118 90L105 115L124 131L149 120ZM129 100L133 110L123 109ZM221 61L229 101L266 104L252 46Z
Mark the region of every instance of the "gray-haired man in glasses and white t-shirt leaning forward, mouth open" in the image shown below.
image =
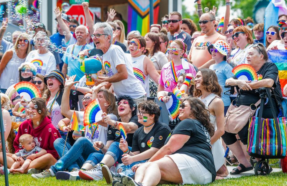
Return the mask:
M96 84L102 82L112 83L117 97L130 95L137 103L146 100L146 92L141 82L134 76L131 62L126 58L123 50L112 45L113 30L106 22L98 22L94 25L94 34L91 35L97 49L103 51L103 66L106 79L94 79Z

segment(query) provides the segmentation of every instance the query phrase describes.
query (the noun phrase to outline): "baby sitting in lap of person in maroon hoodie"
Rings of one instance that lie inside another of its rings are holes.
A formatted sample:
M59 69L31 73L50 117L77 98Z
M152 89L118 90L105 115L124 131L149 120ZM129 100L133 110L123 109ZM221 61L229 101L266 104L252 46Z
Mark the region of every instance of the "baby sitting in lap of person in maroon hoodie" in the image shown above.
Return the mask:
M10 173L24 173L31 161L47 153L45 149L35 146L33 136L30 134L21 135L19 142L22 144L23 149L12 155L12 158L16 161L12 164Z

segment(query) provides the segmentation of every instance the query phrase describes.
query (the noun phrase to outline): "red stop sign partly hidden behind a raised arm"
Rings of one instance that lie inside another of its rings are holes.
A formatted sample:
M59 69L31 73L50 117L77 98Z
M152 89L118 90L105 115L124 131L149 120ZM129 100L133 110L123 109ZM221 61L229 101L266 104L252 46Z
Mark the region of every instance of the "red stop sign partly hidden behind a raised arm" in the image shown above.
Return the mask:
M89 10L93 20L95 19L95 14ZM80 25L86 25L86 18L82 4L72 4L70 9L66 12L70 19L77 19Z

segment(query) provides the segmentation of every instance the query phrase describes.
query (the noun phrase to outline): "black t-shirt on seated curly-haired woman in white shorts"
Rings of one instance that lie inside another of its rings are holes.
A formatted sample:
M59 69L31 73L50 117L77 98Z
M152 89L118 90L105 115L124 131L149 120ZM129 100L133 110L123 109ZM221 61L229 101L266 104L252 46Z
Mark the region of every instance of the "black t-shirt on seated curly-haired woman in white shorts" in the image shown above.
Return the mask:
M181 149L173 154L186 154L195 158L212 174L212 181L214 181L216 170L207 129L198 120L185 119L175 126L170 136L174 134L188 135L190 138ZM165 141L165 144L169 141L170 136Z

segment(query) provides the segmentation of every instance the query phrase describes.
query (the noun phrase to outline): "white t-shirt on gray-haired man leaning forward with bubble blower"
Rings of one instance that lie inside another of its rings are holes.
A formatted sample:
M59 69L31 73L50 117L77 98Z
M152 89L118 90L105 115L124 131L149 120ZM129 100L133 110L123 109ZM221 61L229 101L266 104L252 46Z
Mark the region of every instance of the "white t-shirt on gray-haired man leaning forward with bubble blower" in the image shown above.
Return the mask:
M103 54L103 63L108 77L112 77L117 73L117 65L126 65L128 78L116 83L112 83L117 97L120 95L129 95L132 97L132 99L136 99L146 94L140 80L134 76L131 62L127 59L120 46L110 45L106 54Z

